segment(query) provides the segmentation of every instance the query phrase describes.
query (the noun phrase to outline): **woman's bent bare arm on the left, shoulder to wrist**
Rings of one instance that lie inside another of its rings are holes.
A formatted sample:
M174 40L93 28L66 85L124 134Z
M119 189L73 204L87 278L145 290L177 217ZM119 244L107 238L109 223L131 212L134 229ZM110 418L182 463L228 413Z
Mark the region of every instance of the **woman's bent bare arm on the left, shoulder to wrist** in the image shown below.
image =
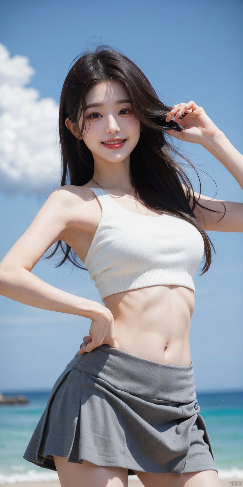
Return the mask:
M51 193L33 222L0 262L0 294L35 308L93 319L109 310L97 301L62 291L31 273L70 224L73 199L64 187Z

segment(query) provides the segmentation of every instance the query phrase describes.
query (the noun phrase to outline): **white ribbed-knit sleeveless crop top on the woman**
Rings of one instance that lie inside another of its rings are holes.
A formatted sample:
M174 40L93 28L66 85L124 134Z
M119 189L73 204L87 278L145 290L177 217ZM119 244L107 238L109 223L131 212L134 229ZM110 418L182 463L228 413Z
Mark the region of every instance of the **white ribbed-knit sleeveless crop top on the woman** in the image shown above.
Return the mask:
M204 255L204 240L189 222L166 213L130 211L103 188L97 196L102 217L85 258L101 300L130 289L161 284L189 287Z

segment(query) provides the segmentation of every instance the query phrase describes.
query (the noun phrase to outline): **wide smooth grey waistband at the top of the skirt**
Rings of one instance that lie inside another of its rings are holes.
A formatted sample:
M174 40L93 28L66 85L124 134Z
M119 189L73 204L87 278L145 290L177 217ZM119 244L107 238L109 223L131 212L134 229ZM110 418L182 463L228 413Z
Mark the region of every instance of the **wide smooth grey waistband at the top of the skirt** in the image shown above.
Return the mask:
M108 382L112 387L149 401L191 403L196 398L193 362L169 365L123 350L100 345L76 354L75 368Z

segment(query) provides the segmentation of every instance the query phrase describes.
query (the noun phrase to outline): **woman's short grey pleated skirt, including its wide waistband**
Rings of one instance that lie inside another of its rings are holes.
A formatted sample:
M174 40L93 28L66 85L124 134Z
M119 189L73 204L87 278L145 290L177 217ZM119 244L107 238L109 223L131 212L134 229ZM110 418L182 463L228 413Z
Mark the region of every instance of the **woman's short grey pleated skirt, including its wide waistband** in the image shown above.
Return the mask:
M216 470L199 414L192 361L153 362L101 345L78 355L53 385L23 458L175 473Z

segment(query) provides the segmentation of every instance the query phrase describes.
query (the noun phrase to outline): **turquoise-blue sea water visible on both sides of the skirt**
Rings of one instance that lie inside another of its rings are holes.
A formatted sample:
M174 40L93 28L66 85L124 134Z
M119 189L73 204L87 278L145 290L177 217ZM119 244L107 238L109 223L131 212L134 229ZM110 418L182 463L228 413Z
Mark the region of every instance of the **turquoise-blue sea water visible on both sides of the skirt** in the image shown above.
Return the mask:
M24 394L30 402L0 406L0 485L58 479L57 472L22 458L50 391L2 393ZM197 393L197 400L208 428L219 476L243 480L243 391Z

